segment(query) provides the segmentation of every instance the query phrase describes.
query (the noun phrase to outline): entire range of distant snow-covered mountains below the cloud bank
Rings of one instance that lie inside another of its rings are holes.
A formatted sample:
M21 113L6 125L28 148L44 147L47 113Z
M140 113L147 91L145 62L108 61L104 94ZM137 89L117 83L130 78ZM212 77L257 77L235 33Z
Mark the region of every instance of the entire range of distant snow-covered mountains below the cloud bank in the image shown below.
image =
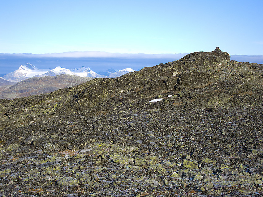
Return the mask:
M38 69L32 64L27 63L26 65L21 65L17 70L4 75L3 79L11 82L20 82L31 77L56 76L61 74L70 74L70 75L78 75L80 77L93 77L93 78L109 78L109 77L114 78L133 71L135 70L131 68L122 69L119 71L116 71L111 68L106 71L101 71L100 73L105 73L105 75L102 75L84 66L75 69L66 69L62 66L57 66L54 69Z

